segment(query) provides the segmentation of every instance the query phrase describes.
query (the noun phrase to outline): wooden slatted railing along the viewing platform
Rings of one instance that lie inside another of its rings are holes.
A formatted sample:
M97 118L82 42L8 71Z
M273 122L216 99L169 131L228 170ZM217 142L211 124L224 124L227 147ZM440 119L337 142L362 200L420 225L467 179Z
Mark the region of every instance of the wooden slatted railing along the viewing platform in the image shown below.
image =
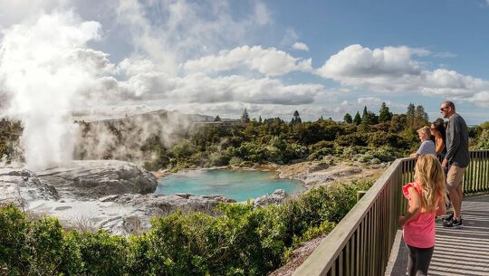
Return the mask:
M470 154L464 193L487 194L489 150ZM413 181L415 162L413 158L394 161L293 275L383 275L398 231L398 216L406 211L401 186Z

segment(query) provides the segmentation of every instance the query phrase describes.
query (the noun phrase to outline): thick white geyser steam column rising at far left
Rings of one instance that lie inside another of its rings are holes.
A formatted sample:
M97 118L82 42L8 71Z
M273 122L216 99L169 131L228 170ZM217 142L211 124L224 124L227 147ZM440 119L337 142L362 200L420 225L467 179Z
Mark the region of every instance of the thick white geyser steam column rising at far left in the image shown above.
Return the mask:
M2 109L23 122L27 167L43 169L72 158L77 129L72 108L82 100L78 91L100 71L81 52L100 37L100 28L72 13L53 13L3 32L0 93L9 103Z

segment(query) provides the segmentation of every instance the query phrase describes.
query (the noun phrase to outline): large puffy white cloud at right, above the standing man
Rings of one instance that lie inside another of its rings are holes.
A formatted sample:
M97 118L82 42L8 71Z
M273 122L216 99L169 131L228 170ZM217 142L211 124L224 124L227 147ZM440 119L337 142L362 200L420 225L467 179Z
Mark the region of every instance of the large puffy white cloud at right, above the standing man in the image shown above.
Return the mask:
M370 50L355 44L332 55L316 72L345 86L451 99L467 99L489 89L489 81L446 69L428 71L412 58L429 54L431 52L406 46Z

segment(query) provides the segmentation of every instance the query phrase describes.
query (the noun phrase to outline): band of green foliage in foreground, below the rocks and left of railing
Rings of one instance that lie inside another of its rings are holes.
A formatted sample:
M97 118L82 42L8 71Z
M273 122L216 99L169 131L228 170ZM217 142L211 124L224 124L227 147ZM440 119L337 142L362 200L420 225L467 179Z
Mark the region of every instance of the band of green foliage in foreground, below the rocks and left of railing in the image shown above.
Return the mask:
M0 207L0 274L265 275L294 247L329 233L371 183L312 189L282 205L220 205L218 216L180 212L154 218L148 233L64 231L58 219L31 220Z

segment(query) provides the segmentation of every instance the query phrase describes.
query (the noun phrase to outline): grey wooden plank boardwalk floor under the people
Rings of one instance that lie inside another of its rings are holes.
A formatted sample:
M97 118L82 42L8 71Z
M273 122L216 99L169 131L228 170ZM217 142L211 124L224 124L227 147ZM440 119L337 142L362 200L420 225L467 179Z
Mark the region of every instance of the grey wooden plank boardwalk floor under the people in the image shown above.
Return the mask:
M436 245L428 275L489 275L489 195L462 203L463 229L447 229L436 221ZM398 231L386 275L407 275L408 252Z

